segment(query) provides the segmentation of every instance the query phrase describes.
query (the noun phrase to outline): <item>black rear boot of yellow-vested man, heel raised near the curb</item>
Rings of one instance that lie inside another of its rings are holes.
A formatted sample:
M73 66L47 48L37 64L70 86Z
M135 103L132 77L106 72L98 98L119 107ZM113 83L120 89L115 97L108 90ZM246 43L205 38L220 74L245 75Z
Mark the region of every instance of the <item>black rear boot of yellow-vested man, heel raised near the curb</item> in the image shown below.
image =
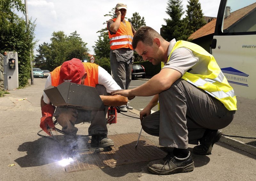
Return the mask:
M222 131L207 129L204 133L204 137L199 139L200 145L193 148L193 153L197 155L211 155L213 144L220 140Z

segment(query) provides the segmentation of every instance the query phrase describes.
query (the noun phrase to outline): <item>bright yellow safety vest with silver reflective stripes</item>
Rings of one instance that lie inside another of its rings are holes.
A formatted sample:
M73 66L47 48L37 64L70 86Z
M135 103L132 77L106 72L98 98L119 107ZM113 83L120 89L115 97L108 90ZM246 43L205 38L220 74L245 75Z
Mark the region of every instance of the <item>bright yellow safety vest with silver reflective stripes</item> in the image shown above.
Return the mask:
M220 100L220 102L222 102L229 111L237 110L236 96L233 88L229 85L226 77L221 72L220 67L214 57L206 52L204 48L188 41L177 41L172 48L171 54L169 55L167 62L169 62L172 52L180 47L186 47L193 52L196 52L208 58L210 60L208 64L208 70L212 72L209 75L191 74L189 72L185 72L185 74L181 78L188 81L192 85L203 89L212 97Z

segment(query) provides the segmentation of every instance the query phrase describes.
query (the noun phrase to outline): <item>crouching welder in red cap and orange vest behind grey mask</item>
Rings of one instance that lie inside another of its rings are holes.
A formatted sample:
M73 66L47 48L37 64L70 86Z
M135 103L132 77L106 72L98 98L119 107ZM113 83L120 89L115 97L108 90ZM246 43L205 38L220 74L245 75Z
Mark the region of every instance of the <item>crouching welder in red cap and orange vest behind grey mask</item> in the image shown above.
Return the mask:
M79 59L73 58L72 60L64 62L61 66L55 68L51 75L48 76L45 88L58 86L64 81L83 84L95 87L98 91L100 98L105 105L104 110L89 111L74 108L66 108L52 105L49 98L43 93L41 98L42 118L40 127L50 135L48 129L54 130L52 117L54 116L57 122L62 127L62 131L68 134L64 135L66 142L72 142L76 139L76 132L78 129L75 124L82 122L91 122L89 127L89 135L92 135L92 147L111 147L114 142L108 139L108 129L106 125L106 114L108 106L126 105L128 99L126 97L116 95L111 96L109 93L114 90L121 89L119 85L113 80L108 72L94 63L81 62Z

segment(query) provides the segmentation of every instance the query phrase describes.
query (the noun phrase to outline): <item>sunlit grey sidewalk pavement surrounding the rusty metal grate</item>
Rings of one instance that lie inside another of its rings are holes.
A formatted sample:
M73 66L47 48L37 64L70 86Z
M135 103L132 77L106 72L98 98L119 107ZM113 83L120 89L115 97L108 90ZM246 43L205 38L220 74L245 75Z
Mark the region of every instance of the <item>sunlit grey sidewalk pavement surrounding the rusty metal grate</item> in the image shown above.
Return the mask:
M256 152L254 147L222 137L213 147L212 155L192 154L195 169L189 173L158 176L147 170L147 162L118 165L67 173L53 152L56 145L39 137L41 118L40 98L46 79L35 78L34 85L9 91L0 98L0 181L13 180L256 180ZM27 98L18 101L17 99ZM139 133L138 112L118 113L117 124L108 125L108 134ZM88 124L77 125L78 134L87 134ZM142 131L142 136L158 146L158 137ZM189 145L190 151L194 145ZM8 166L16 164L14 166Z

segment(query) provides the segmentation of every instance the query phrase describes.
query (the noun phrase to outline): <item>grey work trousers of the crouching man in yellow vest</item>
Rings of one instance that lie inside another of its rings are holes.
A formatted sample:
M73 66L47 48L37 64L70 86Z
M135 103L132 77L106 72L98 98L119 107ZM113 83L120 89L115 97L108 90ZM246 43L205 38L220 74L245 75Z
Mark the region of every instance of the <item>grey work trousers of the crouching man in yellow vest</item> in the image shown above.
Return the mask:
M183 79L161 92L159 103L160 111L145 117L141 125L146 133L159 136L159 145L173 148L197 145L206 129L228 126L236 112Z

